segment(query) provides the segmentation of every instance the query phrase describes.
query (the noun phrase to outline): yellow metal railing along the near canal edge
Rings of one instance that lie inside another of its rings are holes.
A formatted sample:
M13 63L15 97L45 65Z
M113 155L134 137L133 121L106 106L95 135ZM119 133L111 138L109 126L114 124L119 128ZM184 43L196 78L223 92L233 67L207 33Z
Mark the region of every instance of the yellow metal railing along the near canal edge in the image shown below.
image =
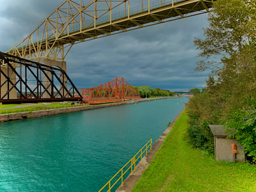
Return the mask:
M140 159L142 160L143 154L145 156L148 155L148 148L150 147L150 150L152 149L152 139L150 139L137 153L130 161L128 161L100 190L102 191L103 189L108 190L108 192L111 191L111 189L116 185L116 183L121 180L121 185L124 185L124 175L127 173L129 170L131 170L131 175L132 171L135 171L136 163ZM138 163L137 163L138 164ZM128 167L127 167L128 166ZM118 177L118 175L120 175ZM116 178L118 177L118 178ZM113 182L113 184L111 184Z

